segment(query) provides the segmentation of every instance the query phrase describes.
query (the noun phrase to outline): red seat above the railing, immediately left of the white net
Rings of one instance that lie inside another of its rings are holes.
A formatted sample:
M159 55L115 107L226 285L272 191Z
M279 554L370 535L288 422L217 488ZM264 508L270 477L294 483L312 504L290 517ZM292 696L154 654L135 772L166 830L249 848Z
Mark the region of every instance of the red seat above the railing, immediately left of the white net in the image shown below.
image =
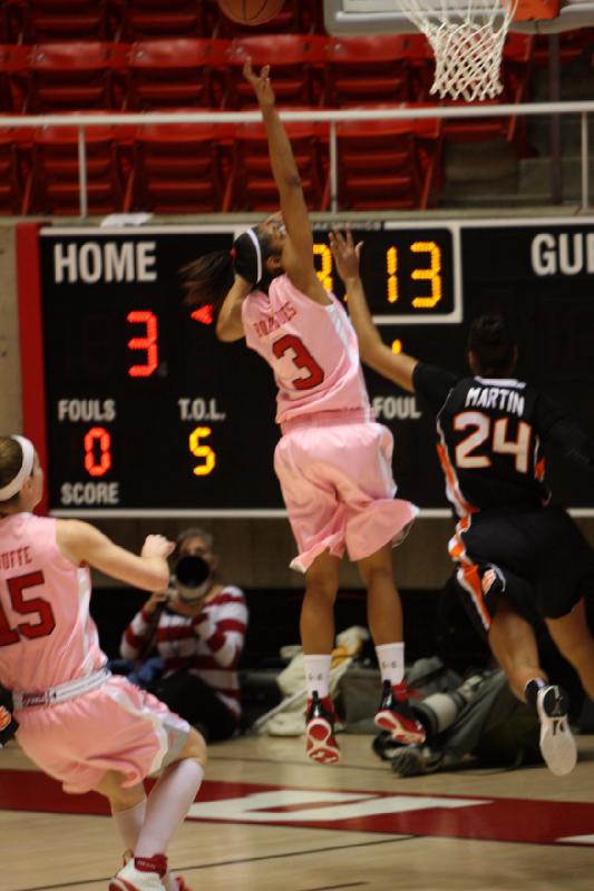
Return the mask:
M330 38L325 105L421 101L432 55L422 35Z

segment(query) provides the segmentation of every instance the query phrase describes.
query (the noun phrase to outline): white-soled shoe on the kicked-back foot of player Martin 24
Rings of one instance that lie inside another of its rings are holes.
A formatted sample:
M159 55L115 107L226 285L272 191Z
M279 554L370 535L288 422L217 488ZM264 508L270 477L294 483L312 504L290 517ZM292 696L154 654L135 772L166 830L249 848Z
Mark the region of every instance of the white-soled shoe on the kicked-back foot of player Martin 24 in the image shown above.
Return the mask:
M569 699L562 687L551 684L538 691L536 711L541 722L541 753L556 776L571 773L577 761L568 709Z

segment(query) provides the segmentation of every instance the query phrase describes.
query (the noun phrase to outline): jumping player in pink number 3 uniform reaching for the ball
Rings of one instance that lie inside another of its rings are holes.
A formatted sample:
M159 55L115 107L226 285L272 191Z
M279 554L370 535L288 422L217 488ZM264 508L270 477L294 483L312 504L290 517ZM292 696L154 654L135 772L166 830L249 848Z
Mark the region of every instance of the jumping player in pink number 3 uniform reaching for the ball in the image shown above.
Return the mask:
M317 275L308 209L269 68L256 76L247 61L244 75L262 110L281 213L240 235L231 254L208 254L183 272L187 302L212 303L218 337L245 336L271 365L279 386L276 421L283 435L274 468L299 548L291 566L306 578L301 637L310 697L308 755L329 763L339 760L329 677L345 549L368 591L383 683L376 721L401 742L425 737L407 702L391 554L416 508L393 498L391 433L373 422L357 336L343 306Z

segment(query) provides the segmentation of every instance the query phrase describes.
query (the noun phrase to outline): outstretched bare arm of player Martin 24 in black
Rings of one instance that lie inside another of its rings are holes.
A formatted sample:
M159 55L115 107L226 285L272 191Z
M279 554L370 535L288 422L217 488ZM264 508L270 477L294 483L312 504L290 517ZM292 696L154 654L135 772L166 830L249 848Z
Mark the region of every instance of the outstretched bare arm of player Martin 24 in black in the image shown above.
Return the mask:
M359 274L359 257L362 242L353 244L352 233L347 227L330 233L330 247L338 274L347 288L347 305L359 341L361 360L403 390L415 391L412 372L418 360L406 353L393 353L378 332L369 312L363 283Z

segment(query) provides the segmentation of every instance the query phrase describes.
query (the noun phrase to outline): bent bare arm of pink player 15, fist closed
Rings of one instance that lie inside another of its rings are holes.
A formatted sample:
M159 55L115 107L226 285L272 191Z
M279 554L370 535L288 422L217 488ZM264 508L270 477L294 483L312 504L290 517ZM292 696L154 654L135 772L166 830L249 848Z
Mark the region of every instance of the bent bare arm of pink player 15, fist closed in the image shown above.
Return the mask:
M58 520L57 545L74 564L89 566L148 591L164 590L169 584L167 557L174 544L163 536L147 536L140 556L115 545L94 526L80 520Z

